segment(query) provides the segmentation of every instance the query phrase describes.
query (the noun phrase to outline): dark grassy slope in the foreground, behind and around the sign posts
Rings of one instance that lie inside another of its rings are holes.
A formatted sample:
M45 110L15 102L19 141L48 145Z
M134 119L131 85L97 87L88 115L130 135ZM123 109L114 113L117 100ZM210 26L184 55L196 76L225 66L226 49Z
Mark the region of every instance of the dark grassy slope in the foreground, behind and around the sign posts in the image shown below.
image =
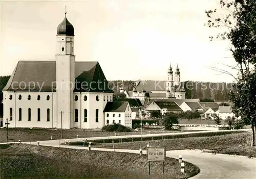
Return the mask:
M1 178L149 178L146 155L88 151L26 144L0 145ZM151 164L150 178L188 178L200 169L185 162L180 173L177 159Z

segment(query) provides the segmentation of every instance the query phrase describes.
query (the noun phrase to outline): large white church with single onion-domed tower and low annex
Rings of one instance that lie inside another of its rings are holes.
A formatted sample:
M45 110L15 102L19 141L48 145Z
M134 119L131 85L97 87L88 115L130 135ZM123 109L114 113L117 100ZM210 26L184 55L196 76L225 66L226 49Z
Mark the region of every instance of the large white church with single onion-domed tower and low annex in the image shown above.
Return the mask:
M3 89L8 126L96 129L115 122L114 114L105 119L108 112L131 126L129 104L112 101L99 63L75 60L74 27L66 16L57 27L55 60L19 61L14 68Z

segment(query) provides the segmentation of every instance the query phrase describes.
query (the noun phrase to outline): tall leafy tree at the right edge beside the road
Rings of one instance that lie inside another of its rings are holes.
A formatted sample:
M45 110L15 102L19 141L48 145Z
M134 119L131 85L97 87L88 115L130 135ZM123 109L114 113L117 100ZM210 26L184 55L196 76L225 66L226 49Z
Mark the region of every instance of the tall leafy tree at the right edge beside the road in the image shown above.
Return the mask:
M238 74L233 75L227 70L212 68L216 71L233 76L236 83L233 85L229 100L233 103L232 111L236 116L241 116L240 123L251 124L252 141L255 146L256 130L256 1L255 0L233 0L220 1L223 9L228 12L224 18L216 17L217 10L205 11L209 18L206 23L208 27L225 27L227 31L217 35L217 39L228 39L231 42L230 52L236 62ZM214 37L209 37L211 40ZM226 65L228 66L228 65ZM230 66L229 66L230 67Z

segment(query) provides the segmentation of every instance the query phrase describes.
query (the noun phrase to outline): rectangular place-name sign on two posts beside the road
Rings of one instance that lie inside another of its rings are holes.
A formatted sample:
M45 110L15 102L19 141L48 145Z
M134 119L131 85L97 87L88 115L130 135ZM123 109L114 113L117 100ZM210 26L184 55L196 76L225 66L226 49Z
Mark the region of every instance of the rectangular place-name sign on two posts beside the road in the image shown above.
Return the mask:
M163 162L163 173L164 173L164 162L166 158L165 147L147 147L147 161L148 161L148 173L150 174L150 162Z

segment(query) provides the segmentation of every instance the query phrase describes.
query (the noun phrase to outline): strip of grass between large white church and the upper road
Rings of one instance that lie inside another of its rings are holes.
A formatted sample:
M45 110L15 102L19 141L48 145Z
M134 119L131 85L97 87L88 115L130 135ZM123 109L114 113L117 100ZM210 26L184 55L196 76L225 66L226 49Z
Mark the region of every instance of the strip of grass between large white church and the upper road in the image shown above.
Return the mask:
M164 131L164 130L143 130L143 134L149 133L173 133L179 131ZM139 135L141 132L129 132L129 133L117 133L119 136L124 135ZM115 132L101 132L100 130L82 130L82 129L70 129L63 130L63 139L85 137L101 137L101 136L115 136ZM39 128L9 128L9 142L21 141L43 141L53 139L61 139L60 129L39 129ZM6 128L0 129L0 142L6 142Z

